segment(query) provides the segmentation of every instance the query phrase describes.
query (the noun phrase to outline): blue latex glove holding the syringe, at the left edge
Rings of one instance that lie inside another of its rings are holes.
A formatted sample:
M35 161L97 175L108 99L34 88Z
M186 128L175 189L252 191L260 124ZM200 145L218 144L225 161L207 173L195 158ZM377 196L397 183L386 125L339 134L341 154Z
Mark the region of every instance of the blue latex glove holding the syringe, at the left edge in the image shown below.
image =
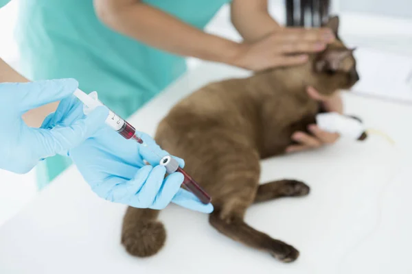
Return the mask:
M0 84L0 169L27 173L39 160L76 147L104 125L107 108L66 127L32 128L21 119L28 110L63 99L77 87L74 79Z

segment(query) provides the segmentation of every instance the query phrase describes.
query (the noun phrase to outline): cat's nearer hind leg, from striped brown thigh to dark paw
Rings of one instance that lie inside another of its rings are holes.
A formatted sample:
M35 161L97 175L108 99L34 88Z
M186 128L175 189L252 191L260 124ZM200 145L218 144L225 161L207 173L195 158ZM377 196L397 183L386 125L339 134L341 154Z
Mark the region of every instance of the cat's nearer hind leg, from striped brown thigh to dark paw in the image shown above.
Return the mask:
M209 178L216 185L213 191L215 195L212 195L214 212L209 216L209 223L225 236L270 253L283 262L296 260L299 252L294 247L244 222L244 213L253 204L259 186L260 162L257 151L238 146L233 151L225 151L216 161L218 164L211 173L214 177Z

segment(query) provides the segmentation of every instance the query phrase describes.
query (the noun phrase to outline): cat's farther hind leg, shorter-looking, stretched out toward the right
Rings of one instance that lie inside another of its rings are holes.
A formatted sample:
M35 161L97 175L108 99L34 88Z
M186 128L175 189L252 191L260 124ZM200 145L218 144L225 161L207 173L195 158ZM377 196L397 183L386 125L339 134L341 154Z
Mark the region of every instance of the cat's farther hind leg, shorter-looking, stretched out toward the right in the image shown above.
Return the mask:
M261 184L256 192L255 203L269 201L280 197L300 197L309 194L310 188L306 184L292 180L282 179L279 181Z

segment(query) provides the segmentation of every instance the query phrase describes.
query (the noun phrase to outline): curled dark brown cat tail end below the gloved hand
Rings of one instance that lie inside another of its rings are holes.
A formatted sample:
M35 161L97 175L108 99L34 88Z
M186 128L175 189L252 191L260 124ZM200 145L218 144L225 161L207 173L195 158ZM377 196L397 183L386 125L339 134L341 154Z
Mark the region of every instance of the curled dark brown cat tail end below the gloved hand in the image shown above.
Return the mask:
M164 245L166 231L157 221L159 210L128 207L123 219L122 245L133 256L155 255Z

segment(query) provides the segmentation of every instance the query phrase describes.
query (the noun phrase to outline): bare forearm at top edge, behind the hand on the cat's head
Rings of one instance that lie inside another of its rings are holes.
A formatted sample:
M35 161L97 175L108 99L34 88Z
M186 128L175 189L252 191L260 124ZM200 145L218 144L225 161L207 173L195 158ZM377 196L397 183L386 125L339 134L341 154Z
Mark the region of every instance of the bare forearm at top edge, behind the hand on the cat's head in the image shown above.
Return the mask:
M233 0L231 22L246 42L260 40L280 27L268 13L267 0Z

